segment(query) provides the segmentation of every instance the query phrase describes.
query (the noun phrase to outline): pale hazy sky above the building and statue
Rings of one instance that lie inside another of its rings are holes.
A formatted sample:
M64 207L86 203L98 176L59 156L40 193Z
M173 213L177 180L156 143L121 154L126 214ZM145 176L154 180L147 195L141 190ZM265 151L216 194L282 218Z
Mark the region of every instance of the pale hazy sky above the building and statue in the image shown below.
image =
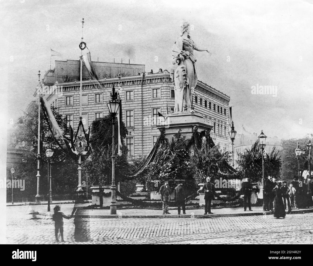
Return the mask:
M198 80L230 96L233 121L268 137L313 133L313 0L310 1L0 1L1 117L23 115L50 68L50 48L78 60L81 21L93 61L172 67L172 45L182 21L195 51ZM54 62L52 61L52 69ZM43 76L41 76L43 77ZM253 94L273 86L277 94Z

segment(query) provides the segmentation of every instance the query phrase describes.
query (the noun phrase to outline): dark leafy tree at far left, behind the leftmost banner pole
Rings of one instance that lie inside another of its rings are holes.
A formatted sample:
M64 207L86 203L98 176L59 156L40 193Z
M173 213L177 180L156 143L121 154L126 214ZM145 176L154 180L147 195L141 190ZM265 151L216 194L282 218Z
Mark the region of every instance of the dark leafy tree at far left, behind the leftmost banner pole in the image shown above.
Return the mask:
M49 107L48 107L49 108ZM58 112L58 108L51 107L54 117L66 134L66 121ZM54 155L51 158L52 162L52 190L54 194L72 194L77 186L77 162L73 161L66 150L65 144L62 141L62 136L58 136L54 132L54 136L50 133L51 125L47 122L44 116L44 110L40 112L40 182L39 193L46 195L48 169L45 150L52 147ZM15 175L17 178L25 179L26 189L24 197L32 198L36 195L37 190L37 143L38 143L38 107L33 105L28 112L18 119L17 142L24 141L27 143L25 147L20 149L23 151L23 157L27 163L23 167L17 169ZM57 141L56 141L57 140ZM59 144L57 143L59 142ZM60 146L59 146L60 145ZM75 173L75 174L73 174Z

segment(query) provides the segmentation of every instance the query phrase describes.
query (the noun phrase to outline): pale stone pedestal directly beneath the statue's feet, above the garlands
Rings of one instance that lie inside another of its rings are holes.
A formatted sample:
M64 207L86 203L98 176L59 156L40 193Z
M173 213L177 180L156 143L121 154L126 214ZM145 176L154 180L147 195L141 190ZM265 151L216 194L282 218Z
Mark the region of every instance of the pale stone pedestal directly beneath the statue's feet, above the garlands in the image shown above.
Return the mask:
M159 128L165 129L165 137L171 140L172 137L181 130L182 136L186 136L187 139L192 137L192 129L194 126L198 127L198 132L203 130L208 130L208 132L213 128L204 117L199 113L172 113L167 115L167 120L164 125Z

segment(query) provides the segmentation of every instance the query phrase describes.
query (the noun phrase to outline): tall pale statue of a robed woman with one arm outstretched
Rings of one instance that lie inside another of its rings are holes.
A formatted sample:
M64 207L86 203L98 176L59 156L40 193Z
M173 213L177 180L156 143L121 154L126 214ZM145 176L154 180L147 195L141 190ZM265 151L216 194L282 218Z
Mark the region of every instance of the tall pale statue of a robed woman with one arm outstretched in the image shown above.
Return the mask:
M172 70L172 80L175 89L175 107L174 112L191 112L192 95L196 88L198 78L195 62L197 61L193 55L193 50L206 51L196 45L189 36L190 24L184 22L181 26L181 34L173 45L173 64L176 68Z

